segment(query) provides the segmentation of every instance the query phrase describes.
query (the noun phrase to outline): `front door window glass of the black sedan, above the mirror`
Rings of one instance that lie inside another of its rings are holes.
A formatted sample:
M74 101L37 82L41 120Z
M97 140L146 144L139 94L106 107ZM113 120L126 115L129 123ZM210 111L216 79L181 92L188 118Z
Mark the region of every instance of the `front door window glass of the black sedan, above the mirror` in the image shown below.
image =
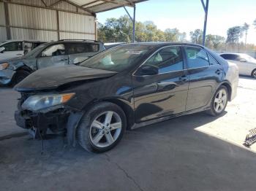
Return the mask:
M159 74L183 70L181 47L165 47L152 55L144 65L157 66Z

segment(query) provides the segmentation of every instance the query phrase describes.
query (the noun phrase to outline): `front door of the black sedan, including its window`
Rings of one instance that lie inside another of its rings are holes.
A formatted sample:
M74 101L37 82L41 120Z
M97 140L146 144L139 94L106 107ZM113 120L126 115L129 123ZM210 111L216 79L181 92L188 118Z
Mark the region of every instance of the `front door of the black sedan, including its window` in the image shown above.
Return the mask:
M143 68L156 67L158 72L144 75ZM135 121L143 122L184 112L189 82L179 46L163 47L132 75Z

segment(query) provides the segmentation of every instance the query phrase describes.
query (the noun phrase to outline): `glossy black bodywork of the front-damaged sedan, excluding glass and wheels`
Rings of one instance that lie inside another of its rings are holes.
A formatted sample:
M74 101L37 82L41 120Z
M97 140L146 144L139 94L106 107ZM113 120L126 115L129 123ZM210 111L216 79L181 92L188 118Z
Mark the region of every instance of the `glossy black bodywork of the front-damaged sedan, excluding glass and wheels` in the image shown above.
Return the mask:
M50 113L54 113L56 119L64 115L65 119L68 118L65 128L67 128L69 137L75 139L75 128L79 123L79 117L100 101L110 101L120 106L127 116L127 127L135 128L138 124L146 125L154 120L159 121L209 109L211 99L220 85L227 86L230 91L230 100L236 96L238 83L236 66L229 66L224 59L219 58L205 47L181 43L144 43L121 46L146 46L148 52L124 71L90 69L83 66L50 67L34 72L16 85L15 90L22 95L20 104L30 95L75 93L75 96L63 106L57 109L54 107L47 109L46 112L31 112L20 107L20 112L17 114L23 115L24 120L28 120L28 116L33 119L29 120L32 125L26 128L31 128L31 126L39 128L39 121L41 121L39 116L42 114L46 114L44 121L47 121L47 114ZM182 70L154 75L138 74L138 70L154 52L162 47L172 46L181 47L184 65ZM199 47L210 54L217 64L188 69L188 61L183 48L185 46ZM87 62L89 61L90 59ZM50 122L54 121L52 116L49 118ZM78 122L74 122L73 116L78 116ZM16 118L19 124L30 124L20 122L20 117ZM35 121L37 125L33 125ZM63 120L61 122L63 124ZM49 124L49 122L45 124L51 127L59 126L55 123ZM42 126L45 127L45 125Z

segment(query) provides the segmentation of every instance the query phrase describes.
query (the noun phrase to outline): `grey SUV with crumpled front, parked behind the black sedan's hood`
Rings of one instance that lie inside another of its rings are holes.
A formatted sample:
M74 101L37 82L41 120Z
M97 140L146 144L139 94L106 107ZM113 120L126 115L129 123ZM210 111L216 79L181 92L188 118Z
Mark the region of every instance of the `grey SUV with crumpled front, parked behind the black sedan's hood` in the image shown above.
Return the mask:
M94 40L59 40L39 45L20 58L0 61L0 85L17 84L32 72L49 66L78 64L105 50Z

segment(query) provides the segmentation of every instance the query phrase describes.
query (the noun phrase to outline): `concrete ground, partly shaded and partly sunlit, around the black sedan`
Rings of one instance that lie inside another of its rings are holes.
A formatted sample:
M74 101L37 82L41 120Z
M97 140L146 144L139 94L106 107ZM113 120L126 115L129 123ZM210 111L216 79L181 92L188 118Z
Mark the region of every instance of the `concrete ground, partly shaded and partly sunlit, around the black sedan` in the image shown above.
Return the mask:
M241 77L222 117L204 113L127 131L110 152L35 141L15 125L18 94L0 89L0 190L255 190L256 80Z

